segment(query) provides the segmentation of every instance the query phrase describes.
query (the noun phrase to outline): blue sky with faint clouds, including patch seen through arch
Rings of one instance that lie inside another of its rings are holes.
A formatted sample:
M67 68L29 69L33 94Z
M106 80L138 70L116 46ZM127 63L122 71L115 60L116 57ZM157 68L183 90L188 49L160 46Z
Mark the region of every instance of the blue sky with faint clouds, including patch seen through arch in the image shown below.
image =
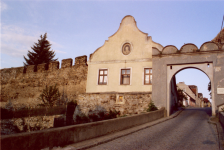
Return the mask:
M163 46L180 49L194 43L200 48L221 30L224 15L223 0L1 0L0 7L1 69L23 66L23 56L44 33L59 62L89 57L118 30L126 15L132 15L138 28ZM200 81L195 76L190 81L192 70L178 73L177 83ZM205 75L198 70L194 73ZM203 78L203 82L202 87L209 80ZM202 90L199 85L199 92L207 92L207 86Z

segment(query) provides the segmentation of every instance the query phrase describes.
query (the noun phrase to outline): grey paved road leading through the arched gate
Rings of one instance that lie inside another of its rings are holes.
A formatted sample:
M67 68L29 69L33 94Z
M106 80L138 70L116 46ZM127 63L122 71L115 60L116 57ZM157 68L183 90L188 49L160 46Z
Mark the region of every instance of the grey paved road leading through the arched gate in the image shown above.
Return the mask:
M218 150L210 108L188 108L176 118L89 150Z

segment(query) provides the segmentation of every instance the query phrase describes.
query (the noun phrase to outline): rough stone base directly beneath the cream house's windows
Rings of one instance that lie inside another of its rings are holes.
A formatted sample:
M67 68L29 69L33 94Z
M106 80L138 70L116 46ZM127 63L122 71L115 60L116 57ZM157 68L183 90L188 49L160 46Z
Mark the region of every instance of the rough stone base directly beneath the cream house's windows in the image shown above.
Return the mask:
M118 102L119 96L124 101ZM124 114L139 114L146 111L151 93L85 93L77 96L79 110L88 114L94 111L117 110Z

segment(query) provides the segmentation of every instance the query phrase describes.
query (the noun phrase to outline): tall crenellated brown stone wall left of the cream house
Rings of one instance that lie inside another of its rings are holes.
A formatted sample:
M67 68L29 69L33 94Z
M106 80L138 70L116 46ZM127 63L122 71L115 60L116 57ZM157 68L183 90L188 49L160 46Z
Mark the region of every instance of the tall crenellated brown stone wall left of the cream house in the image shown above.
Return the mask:
M74 100L77 94L86 91L87 71L87 56L76 57L75 65L72 65L72 59L64 59L60 69L58 61L40 64L36 69L34 65L2 69L1 106L11 100L15 107L34 107L41 103L37 98L45 86L55 84L61 93Z

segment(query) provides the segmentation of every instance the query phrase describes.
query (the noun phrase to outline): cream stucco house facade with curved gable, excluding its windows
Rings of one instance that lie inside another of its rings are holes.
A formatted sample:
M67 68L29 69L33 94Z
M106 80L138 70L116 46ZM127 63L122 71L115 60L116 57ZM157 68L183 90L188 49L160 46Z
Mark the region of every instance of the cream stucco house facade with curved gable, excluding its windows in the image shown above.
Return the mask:
M125 44L128 53L122 51ZM132 16L124 17L118 31L90 55L86 92L151 92L152 85L144 84L144 69L152 68L152 47L163 48L137 28ZM103 85L99 84L100 69L107 70ZM121 84L121 69L130 70L128 85Z

